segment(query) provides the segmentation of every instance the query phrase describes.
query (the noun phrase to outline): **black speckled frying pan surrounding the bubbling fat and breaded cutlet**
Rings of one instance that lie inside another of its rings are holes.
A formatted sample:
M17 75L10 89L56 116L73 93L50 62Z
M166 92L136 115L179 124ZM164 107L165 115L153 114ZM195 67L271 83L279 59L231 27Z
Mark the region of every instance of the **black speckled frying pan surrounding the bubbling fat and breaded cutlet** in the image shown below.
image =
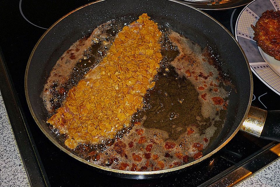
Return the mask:
M90 33L90 30L93 30L108 20L125 16L128 22L132 22L132 20L136 20L142 13L148 13L155 22L161 25L168 23L174 31L180 32L185 37L190 38L202 48L207 45L216 48L224 61L223 71L232 75L232 82L237 92L232 91L229 96L230 102L228 103L226 122L220 135L215 141L210 142L209 146L203 151L204 156L200 159L180 167L153 172L131 172L109 169L83 160L71 153L63 143L57 141L46 124L46 109L43 106L40 94L57 59L75 41L81 39L84 35ZM31 53L25 74L25 93L29 109L34 120L50 141L65 153L81 162L102 169L109 174L137 179L164 176L164 174L169 174L200 162L220 150L232 139L246 119L251 105L252 90L252 74L248 61L234 37L216 20L202 11L176 1L168 0L97 1L72 11L52 25L40 38ZM263 128L267 112L254 109L250 110L251 118L247 118L246 121L251 126L249 128L244 126L242 129L250 130L251 133L254 133L250 120L256 122L255 112L259 116L263 115L259 119L260 124L258 123ZM268 113L267 117L270 116L271 112ZM279 117L278 121L271 119L268 119L270 120L270 125L275 124L274 127L278 127L277 122L279 122ZM267 124L264 128L266 126ZM262 135L270 136L271 131L267 130L266 132L267 134ZM274 133L274 138L279 140L279 136L276 136L276 134Z

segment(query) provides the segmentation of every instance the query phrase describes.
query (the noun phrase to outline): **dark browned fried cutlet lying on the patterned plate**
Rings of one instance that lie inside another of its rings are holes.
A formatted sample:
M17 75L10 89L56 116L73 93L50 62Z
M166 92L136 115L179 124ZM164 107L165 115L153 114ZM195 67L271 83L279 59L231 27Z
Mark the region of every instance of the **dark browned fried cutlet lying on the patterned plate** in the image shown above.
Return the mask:
M258 46L276 60L280 60L280 11L265 11L256 25L253 39Z

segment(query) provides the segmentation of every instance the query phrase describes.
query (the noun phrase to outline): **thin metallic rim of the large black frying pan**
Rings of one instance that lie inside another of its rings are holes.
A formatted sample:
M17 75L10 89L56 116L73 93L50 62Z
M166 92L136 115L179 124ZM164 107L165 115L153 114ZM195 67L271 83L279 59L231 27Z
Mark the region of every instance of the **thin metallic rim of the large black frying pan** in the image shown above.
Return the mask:
M29 110L31 112L31 115L33 117L33 119L35 120L36 124L38 125L38 127L41 129L41 131L43 132L43 134L45 134L45 136L47 136L47 138L53 143L55 144L55 146L57 146L60 150L64 151L66 154L70 155L71 157L85 163L85 164L88 164L88 165L91 165L93 167L96 167L98 169L102 169L102 170L105 170L105 171L108 171L108 172L114 172L114 173L121 173L121 174L132 174L132 175L152 175L152 174L163 174L163 173L167 173L167 172L174 172L176 170L179 170L179 169L183 169L185 167L189 167L191 165L194 165L208 157L210 157L211 155L213 155L214 153L216 153L218 150L220 150L221 148L223 148L236 134L237 132L239 131L239 129L241 128L243 122L245 121L246 119L246 116L249 112L249 109L250 109L250 106L251 106L251 101L252 101L252 96L253 96L253 77L252 77L252 72L251 72L251 69L250 69L250 65L249 65L249 62L248 62L248 59L246 58L246 55L244 53L244 51L242 50L241 46L239 45L239 43L237 42L237 40L234 38L234 36L223 26L221 25L216 19L212 18L210 15L202 12L201 10L195 8L195 7L192 7L188 4L183 4L181 2L178 2L176 0L168 0L168 1L172 1L172 2L175 2L175 3L178 3L178 4L181 4L183 6L188 6L190 8L193 8L195 9L196 11L199 11L200 13L203 13L204 15L206 15L207 17L209 17L210 19L212 19L213 21L215 21L218 25L220 25L229 35L230 37L235 41L235 43L237 44L237 46L239 47L239 49L241 50L245 60L246 60L246 63L247 63L247 68L248 68L248 71L249 71L249 77L250 77L250 84L251 84L251 88L250 88L250 98L249 98L249 102L248 102L248 106L246 108L246 112L244 114L244 117L242 118L239 126L237 127L237 129L235 129L235 131L230 135L229 138L227 138L226 141L224 141L219 147L217 147L216 149L212 150L210 153L208 153L207 155L204 155L203 157L197 159L197 160L194 160L192 162L189 162L185 165L182 165L182 166L178 166L178 167L174 167L174 168L170 168L170 169L164 169L164 170L159 170L159 171L149 171L149 172L132 172L132 171L123 171L123 170L118 170L118 169L111 169L111 168L107 168L107 167L104 167L104 166L99 166L97 164L94 164L92 162L88 162L76 155L74 155L73 153L71 153L69 150L67 150L66 148L62 147L55 138L52 138L51 136L48 135L48 133L43 129L43 125L40 124L39 120L37 119L37 117L35 116L34 114L34 111L31 107L31 103L29 101L29 97L28 97L28 89L27 89L27 78L28 78L28 70L29 70L29 66L30 66L30 63L31 63L31 60L32 60L32 57L34 55L34 52L36 51L38 45L40 44L40 42L42 41L42 39L46 36L46 34L48 34L48 32L55 26L57 25L58 22L60 22L61 20L63 20L64 18L66 18L67 16L69 16L71 13L74 13L78 10L80 10L81 8L84 8L86 6L89 6L89 5L92 5L92 4L95 4L95 3L98 3L98 2L101 2L101 1L106 1L106 0L99 0L99 1L94 1L94 2L91 2L91 3L88 3L88 4L85 4L79 8L76 8L75 10L69 12L68 14L64 15L62 18L60 18L59 20L57 20L52 26L50 26L50 28L48 28L48 30L46 30L46 32L41 36L41 38L38 40L38 42L36 43L36 45L34 46L30 56L29 56L29 59L28 59L28 62L27 62L27 66L26 66L26 70L25 70L25 77L24 77L24 88L25 88L25 97L26 97L26 100L27 100L27 104L28 104L28 107L29 107ZM42 126L42 127L41 127Z

